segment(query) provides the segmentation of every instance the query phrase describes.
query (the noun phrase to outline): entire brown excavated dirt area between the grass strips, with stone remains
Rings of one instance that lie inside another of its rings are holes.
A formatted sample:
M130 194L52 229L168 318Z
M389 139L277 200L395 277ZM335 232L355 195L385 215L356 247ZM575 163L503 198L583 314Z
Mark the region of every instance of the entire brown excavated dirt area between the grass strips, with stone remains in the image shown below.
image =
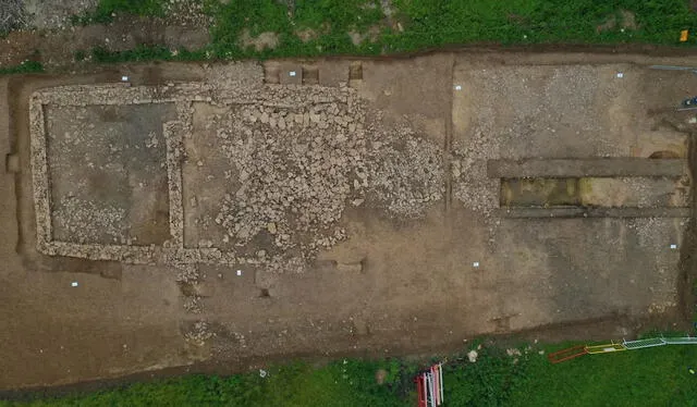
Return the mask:
M683 326L697 75L653 64L697 57L4 77L0 388Z

